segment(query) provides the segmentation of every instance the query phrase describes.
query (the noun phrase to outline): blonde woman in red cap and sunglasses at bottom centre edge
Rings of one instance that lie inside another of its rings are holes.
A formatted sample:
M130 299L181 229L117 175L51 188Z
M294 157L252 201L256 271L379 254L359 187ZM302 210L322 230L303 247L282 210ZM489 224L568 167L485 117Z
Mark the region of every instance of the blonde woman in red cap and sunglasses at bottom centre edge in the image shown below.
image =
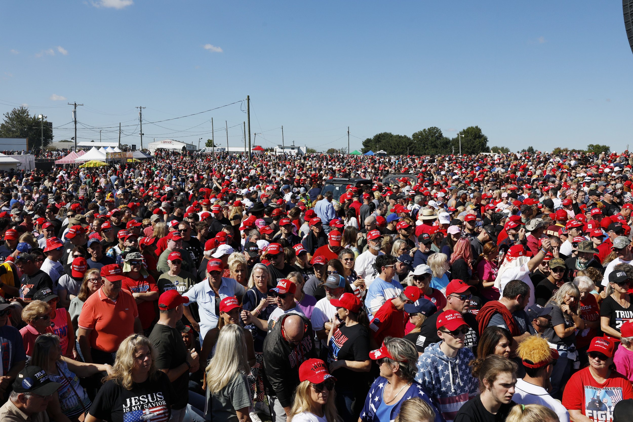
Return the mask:
M321 359L308 359L299 366L288 422L341 422L335 406L334 383L327 365Z

